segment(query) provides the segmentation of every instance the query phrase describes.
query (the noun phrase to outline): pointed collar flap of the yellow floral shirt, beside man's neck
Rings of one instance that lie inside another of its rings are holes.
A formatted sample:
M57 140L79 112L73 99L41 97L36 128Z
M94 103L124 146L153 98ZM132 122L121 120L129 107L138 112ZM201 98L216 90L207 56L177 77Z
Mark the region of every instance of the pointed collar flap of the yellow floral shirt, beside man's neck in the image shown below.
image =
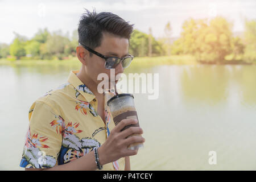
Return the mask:
M90 89L77 77L79 70L71 71L68 76L68 82L74 86L77 92L79 92L87 102L92 101L96 96L90 91ZM76 94L76 97L78 95Z

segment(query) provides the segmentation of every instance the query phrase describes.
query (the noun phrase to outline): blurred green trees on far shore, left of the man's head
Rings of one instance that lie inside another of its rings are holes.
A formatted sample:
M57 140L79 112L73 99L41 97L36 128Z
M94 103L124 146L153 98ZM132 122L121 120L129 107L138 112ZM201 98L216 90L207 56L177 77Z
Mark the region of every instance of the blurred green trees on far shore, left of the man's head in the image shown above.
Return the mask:
M0 58L11 55L9 59L65 59L69 55L76 55L78 45L77 30L73 31L71 40L61 31L49 33L47 28L39 29L35 36L28 40L26 37L15 34L15 39L10 47L7 44L0 44ZM9 53L10 52L10 53ZM25 57L26 56L26 57Z

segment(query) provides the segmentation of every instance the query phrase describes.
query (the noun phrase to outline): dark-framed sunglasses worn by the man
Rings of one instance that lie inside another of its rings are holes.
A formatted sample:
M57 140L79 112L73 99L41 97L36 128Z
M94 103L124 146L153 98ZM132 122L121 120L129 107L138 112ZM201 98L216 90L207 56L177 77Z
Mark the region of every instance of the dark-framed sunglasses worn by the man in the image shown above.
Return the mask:
M123 68L127 68L129 67L129 65L131 64L131 61L133 60L133 56L131 55L128 55L128 56L125 56L123 58L119 58L119 57L115 57L115 56L104 56L102 55L101 53L98 53L96 51L94 51L93 49L85 46L84 44L82 43L79 43L82 45L82 47L84 47L85 49L87 49L88 51L94 53L95 55L105 59L105 68L106 69L112 69L112 68L115 68L117 67L117 65L119 63L122 64L122 67Z

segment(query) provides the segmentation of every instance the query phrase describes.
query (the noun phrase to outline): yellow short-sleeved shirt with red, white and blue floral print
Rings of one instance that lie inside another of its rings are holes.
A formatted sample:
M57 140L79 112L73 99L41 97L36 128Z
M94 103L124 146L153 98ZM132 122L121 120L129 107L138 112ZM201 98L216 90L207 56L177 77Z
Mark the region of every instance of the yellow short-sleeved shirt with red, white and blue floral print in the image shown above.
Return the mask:
M97 99L71 71L68 82L38 98L28 113L29 127L20 167L51 168L86 155L100 147L115 127L106 102L105 121L97 114ZM85 164L86 165L86 164ZM103 166L103 170L124 170L125 158Z

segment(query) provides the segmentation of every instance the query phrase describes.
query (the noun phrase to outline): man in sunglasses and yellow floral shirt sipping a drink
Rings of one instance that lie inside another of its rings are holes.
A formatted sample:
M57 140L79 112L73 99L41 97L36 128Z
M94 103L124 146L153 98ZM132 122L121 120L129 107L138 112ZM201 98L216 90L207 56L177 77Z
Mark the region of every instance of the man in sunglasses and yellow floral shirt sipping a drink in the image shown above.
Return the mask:
M71 71L68 82L32 104L29 128L20 167L26 170L130 170L131 143L143 143L137 123L123 119L114 125L106 101L113 94L99 92L100 73L110 78L123 73L133 56L128 54L133 26L119 16L95 11L81 16L76 52L80 71ZM119 58L118 58L119 57ZM115 81L117 82L117 81ZM110 83L110 82L109 82ZM106 89L106 88L104 88Z

